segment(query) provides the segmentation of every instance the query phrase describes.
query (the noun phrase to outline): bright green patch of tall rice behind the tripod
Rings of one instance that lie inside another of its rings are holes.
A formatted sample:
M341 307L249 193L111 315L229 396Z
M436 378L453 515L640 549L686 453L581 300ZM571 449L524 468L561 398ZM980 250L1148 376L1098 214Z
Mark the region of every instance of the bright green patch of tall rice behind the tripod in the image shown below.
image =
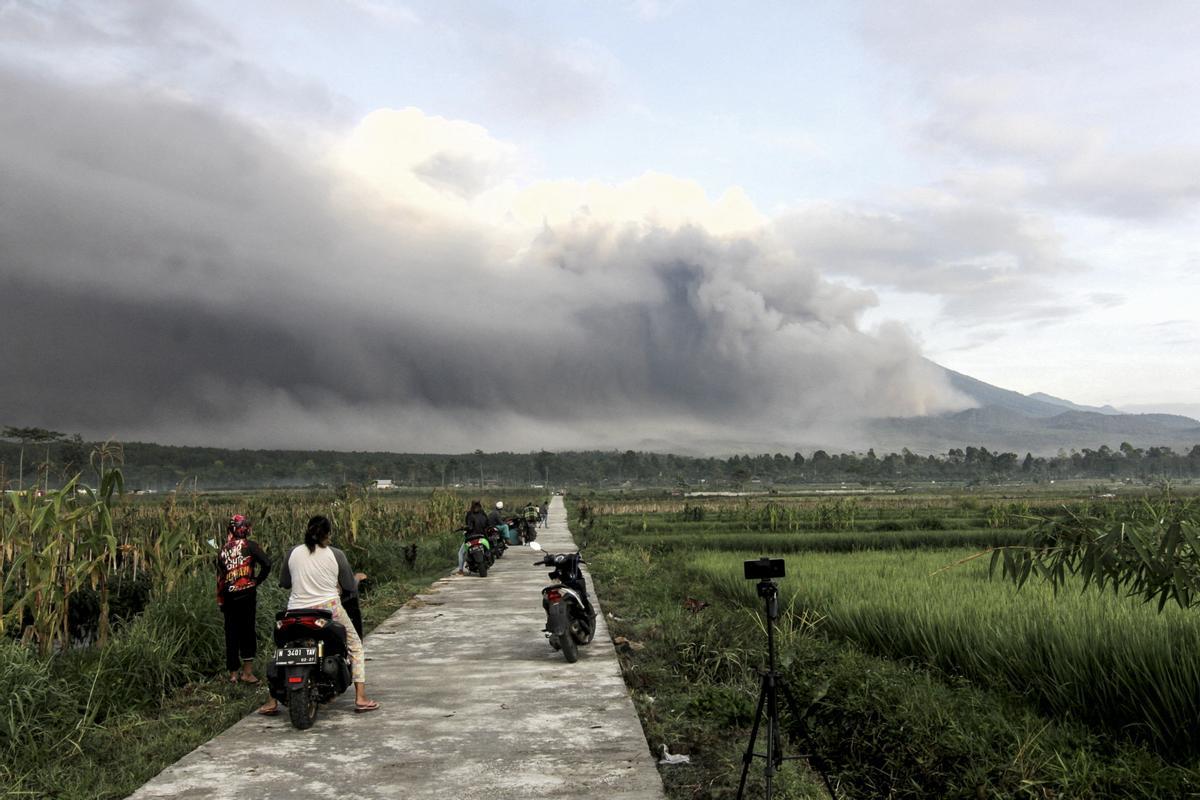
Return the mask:
M1200 750L1200 618L1112 593L1018 589L978 551L797 553L780 601L824 636L914 660L988 688L1181 753ZM724 597L761 601L742 577L760 551L702 553L688 569Z

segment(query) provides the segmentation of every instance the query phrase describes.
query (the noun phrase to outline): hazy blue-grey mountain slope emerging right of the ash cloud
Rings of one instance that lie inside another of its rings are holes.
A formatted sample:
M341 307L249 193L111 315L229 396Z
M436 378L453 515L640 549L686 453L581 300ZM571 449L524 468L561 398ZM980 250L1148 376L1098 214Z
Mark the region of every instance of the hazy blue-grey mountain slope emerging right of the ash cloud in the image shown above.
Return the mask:
M868 426L871 445L941 452L964 441L1015 452L1052 455L1060 449L1139 447L1176 450L1200 444L1200 421L1177 414L1124 414L1104 405L1079 405L1051 395L1021 395L946 369L947 379L978 408L937 416L889 417Z

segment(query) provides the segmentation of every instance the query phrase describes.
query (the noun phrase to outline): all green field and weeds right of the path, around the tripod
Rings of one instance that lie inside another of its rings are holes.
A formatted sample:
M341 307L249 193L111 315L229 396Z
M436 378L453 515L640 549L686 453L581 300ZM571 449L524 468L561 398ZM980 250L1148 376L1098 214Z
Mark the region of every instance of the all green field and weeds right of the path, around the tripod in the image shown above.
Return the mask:
M852 798L1189 796L1196 610L1078 581L1018 589L973 558L1024 542L1018 519L1136 521L1154 503L590 498L590 524L575 524L614 636L637 643L622 657L652 747L692 756L665 771L672 796L736 788L766 639L742 561L763 554L787 560L781 658L814 702L787 721L814 770L792 769L781 796L826 796L817 772Z

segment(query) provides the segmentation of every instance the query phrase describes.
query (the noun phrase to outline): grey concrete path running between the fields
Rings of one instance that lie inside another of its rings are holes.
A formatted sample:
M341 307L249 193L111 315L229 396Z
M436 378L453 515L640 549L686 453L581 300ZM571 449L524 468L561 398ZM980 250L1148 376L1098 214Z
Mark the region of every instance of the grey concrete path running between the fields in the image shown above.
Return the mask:
M562 498L538 541L575 549ZM488 577L444 578L377 627L366 652L378 711L354 714L348 691L308 730L286 709L252 714L131 796L662 798L604 613L566 663L541 632L538 555L510 547Z

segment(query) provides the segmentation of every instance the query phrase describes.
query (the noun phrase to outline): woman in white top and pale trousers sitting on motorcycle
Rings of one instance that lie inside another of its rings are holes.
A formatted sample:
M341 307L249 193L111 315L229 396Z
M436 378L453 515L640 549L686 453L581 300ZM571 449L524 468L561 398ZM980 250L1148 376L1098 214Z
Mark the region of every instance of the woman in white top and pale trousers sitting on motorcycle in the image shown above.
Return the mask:
M350 569L346 553L329 546L332 525L325 517L313 517L304 535L304 545L296 545L283 559L280 585L290 589L288 610L293 608L324 608L334 615L334 621L346 628L346 649L350 654L350 670L354 680L354 710L359 714L374 711L379 704L366 693L366 657L362 639L359 638L349 614L342 608L341 596L358 591L359 581ZM271 698L258 709L259 714L272 715L280 710Z

